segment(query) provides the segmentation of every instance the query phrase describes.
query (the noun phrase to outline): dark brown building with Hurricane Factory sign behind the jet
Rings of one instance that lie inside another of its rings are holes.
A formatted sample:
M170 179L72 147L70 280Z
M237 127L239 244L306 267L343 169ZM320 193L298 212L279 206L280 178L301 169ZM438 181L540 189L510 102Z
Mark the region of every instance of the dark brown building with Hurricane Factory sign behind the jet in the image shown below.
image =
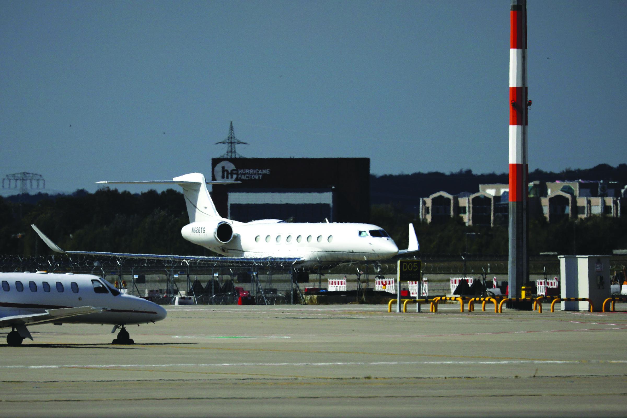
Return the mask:
M218 213L235 221L368 222L368 158L214 158Z

